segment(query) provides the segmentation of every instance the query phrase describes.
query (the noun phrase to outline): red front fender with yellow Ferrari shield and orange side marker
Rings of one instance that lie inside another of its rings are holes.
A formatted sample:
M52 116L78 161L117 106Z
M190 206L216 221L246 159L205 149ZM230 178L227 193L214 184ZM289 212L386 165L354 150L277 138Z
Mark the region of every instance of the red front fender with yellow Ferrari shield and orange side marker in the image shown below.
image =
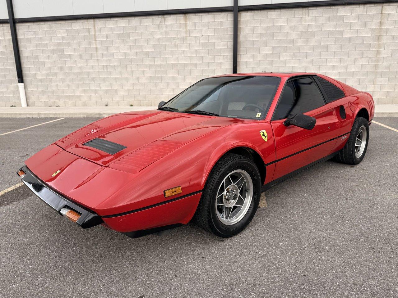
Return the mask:
M260 128L267 130L267 142L259 134ZM220 157L236 147L253 149L264 163L275 160L271 125L239 124L198 137L135 174L131 183L102 201L96 210L101 215L112 215L200 192ZM181 194L164 197L164 190L177 186L181 186Z

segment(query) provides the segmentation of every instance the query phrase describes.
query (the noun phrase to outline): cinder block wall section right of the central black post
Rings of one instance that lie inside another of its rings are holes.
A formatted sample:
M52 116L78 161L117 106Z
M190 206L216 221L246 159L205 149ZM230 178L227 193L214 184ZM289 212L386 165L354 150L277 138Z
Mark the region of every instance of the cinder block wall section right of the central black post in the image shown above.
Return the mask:
M239 13L238 72L318 72L398 104L398 4Z

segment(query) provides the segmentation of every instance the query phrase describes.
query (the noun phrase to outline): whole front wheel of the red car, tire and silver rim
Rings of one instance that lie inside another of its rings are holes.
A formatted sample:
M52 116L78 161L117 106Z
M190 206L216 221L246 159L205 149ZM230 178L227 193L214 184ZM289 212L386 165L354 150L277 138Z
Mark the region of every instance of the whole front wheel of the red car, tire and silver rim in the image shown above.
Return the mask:
M252 221L260 194L260 174L253 161L237 154L225 155L207 179L195 221L217 236L231 237Z

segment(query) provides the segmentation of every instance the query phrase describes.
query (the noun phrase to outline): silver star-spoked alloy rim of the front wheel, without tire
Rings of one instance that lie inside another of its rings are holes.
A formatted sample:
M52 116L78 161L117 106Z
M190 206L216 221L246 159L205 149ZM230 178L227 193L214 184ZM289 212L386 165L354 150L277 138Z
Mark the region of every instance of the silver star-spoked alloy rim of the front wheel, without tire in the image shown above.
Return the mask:
M247 213L253 198L253 182L248 172L234 170L217 190L216 213L221 223L238 223Z

